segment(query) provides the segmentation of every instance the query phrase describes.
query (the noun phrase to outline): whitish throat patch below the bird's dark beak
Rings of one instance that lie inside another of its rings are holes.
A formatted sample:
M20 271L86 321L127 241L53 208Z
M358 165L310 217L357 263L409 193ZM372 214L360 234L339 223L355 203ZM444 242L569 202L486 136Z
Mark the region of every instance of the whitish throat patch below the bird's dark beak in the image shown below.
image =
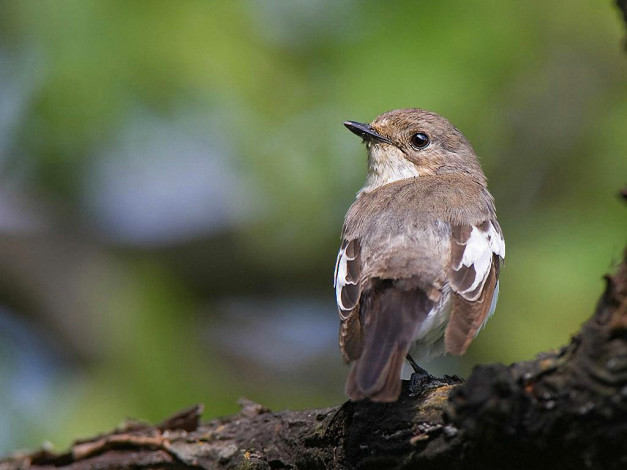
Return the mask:
M368 177L357 195L370 192L379 186L420 176L416 166L393 145L368 146Z

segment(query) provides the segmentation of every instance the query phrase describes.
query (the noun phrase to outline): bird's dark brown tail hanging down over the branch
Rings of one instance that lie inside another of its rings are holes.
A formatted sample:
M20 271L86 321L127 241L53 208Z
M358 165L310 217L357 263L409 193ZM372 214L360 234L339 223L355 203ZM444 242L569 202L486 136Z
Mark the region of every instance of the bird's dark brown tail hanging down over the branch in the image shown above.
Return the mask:
M396 401L401 369L412 339L433 303L418 288L402 290L379 281L363 295L363 349L346 380L351 400Z

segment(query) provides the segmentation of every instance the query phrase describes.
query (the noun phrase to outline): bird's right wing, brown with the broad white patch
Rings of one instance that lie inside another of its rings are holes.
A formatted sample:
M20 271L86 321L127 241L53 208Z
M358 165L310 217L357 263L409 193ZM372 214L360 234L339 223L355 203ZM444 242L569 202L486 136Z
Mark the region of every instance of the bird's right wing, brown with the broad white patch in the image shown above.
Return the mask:
M461 355L494 311L505 243L496 220L451 227L452 309L445 343Z

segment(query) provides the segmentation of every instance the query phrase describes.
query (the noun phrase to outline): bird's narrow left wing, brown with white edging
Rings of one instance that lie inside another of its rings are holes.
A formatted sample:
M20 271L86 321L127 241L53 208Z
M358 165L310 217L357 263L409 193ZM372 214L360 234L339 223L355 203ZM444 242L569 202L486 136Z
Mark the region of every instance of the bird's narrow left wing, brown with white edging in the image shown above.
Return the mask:
M346 362L357 359L361 355L360 276L361 244L358 239L344 239L335 263L334 285L341 321L340 350Z

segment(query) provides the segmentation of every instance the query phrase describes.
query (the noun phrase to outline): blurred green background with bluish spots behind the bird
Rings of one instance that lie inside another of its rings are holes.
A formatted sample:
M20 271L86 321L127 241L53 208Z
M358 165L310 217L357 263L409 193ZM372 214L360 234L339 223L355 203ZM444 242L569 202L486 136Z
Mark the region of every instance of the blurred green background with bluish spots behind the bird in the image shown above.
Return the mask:
M427 367L566 343L627 241L623 37L611 1L0 1L0 452L343 401L341 123L394 108L462 129L507 241L495 317Z

